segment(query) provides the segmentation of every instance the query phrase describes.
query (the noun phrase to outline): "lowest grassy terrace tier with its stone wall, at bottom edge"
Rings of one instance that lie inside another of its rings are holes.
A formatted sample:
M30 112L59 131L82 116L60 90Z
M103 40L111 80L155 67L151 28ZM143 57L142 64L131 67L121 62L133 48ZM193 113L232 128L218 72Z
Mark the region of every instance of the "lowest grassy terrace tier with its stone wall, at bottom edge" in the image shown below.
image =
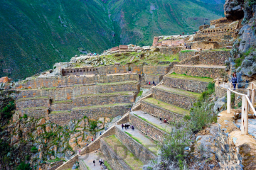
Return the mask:
M114 169L142 169L144 163L132 154L116 135L105 137L100 142L100 148L107 162Z

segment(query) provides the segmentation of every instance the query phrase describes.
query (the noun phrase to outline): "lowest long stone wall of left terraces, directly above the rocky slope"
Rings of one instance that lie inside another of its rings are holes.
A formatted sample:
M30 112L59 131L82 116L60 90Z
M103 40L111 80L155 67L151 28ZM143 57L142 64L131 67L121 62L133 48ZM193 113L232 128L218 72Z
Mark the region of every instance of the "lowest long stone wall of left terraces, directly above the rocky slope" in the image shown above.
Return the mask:
M97 107L97 108L73 108L71 112L63 113L54 113L49 114L49 119L52 123L56 123L58 125L67 125L70 120L78 120L87 116L90 120L97 120L98 118L114 118L118 115L124 115L131 104L125 104L121 106L105 106L105 107Z

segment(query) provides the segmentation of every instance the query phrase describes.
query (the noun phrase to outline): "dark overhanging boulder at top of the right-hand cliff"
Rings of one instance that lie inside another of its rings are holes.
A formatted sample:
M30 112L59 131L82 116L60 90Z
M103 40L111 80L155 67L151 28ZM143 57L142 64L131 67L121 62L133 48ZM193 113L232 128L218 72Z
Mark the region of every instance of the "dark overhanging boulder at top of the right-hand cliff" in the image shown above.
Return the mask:
M243 18L244 11L243 6L244 0L227 0L225 1L224 5L224 11L225 11L225 17L228 18L228 20L238 20Z

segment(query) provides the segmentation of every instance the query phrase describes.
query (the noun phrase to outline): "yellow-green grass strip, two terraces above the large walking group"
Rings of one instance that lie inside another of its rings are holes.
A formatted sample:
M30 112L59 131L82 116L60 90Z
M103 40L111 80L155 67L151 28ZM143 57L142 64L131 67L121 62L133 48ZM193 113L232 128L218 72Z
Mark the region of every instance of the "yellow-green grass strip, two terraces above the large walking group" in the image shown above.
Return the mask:
M144 101L159 106L160 108L164 108L168 111L178 113L180 115L189 115L189 111L183 108L179 108L177 106L171 105L169 103L165 103L163 101L156 100L155 98L146 98Z

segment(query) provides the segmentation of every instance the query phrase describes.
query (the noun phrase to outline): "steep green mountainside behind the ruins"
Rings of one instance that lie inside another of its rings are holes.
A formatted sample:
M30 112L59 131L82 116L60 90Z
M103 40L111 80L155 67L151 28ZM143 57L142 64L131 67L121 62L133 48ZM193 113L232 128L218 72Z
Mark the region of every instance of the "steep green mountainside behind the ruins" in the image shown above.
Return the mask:
M0 77L24 79L74 55L154 36L193 33L223 16L223 0L2 0Z

